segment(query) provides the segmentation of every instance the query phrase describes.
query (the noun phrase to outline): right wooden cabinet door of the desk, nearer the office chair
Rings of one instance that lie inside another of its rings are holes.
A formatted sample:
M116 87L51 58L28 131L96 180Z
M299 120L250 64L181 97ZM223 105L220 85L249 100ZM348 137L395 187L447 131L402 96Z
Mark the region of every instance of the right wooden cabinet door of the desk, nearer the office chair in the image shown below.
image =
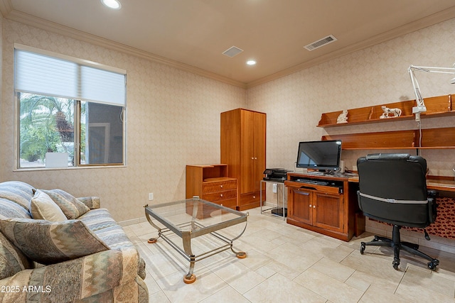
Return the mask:
M343 231L343 195L314 193L314 226Z

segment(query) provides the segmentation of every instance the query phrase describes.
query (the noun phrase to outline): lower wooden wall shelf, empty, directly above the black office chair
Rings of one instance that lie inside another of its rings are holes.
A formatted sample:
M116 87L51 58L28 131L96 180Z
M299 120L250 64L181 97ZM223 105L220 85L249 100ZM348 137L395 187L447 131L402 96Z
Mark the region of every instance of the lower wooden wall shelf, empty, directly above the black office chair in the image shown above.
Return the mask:
M341 140L343 150L455 148L455 127L422 129L421 144L418 129L326 135L322 140Z

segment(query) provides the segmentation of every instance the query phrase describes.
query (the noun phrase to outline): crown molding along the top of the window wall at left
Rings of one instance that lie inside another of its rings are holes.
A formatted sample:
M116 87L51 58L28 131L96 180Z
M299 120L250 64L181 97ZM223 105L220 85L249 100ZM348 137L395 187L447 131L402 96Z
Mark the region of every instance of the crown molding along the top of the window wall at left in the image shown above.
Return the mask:
M9 3L9 6L8 6ZM144 50L139 50L137 48L132 48L131 46L124 45L122 43L117 43L109 39L101 38L97 35L92 35L90 33L85 33L83 31L78 31L75 28L70 28L68 26L63 26L58 23L54 23L43 18L38 18L36 16L31 16L28 13L23 13L21 11L15 11L11 9L11 2L9 0L0 0L0 11L4 15L4 18L7 18L11 21L20 22L28 26L33 26L36 28L41 28L45 31L50 31L52 33L57 33L59 35L65 35L66 37L74 38L77 40L82 40L87 43L92 43L95 45L100 45L104 48L110 50L117 50L122 53L127 53L129 55L134 55L136 57L141 57L146 60L151 60L153 62L158 62L170 67L174 67L178 70L183 70L185 72L191 72L202 77L209 79L214 79L225 84L230 84L235 87L241 87L245 89L247 84L244 82L236 81L222 75L218 75L214 72L208 72L207 70L200 69L191 65L187 65L182 62L175 60L170 60L166 57L159 55L154 55L152 53L146 52Z

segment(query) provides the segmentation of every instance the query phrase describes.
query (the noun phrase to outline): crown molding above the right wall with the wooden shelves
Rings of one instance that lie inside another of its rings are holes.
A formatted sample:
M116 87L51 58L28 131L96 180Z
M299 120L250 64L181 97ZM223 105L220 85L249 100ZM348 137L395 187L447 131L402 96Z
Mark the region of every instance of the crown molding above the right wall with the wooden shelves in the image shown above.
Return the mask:
M425 18L421 18L417 21L407 23L404 26L400 26L399 28L394 28L391 31L386 31L384 33L380 33L380 34L375 35L371 38L368 38L367 40L364 40L360 43L355 43L353 45L349 45L346 48L341 48L340 50L336 50L332 53L322 55L321 57L317 57L313 60L302 62L299 65L294 65L293 67L289 67L285 70L280 70L279 72L275 72L272 75L268 75L266 77L262 77L255 81L248 82L247 89L273 81L275 79L279 79L281 77L285 77L287 75L294 74L295 72L300 72L301 70L306 70L309 67L314 67L323 62L327 62L329 60L333 60L338 57L342 57L344 55L348 55L350 53L354 53L359 50L364 50L365 48L370 48L374 45L378 45L387 40L392 40L392 39L398 38L402 35L406 35L408 33L414 32L414 31L419 31L422 28L427 28L429 26L433 26L434 24L450 20L451 18L455 18L455 6L452 6L450 9L445 9L444 11L439 11L438 13L434 13Z

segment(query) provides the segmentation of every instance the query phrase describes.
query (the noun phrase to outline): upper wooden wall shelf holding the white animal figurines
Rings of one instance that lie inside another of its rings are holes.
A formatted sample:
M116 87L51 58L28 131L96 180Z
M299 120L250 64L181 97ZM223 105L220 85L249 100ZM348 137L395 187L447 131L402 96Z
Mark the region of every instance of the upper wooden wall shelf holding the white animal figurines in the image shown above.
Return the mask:
M455 100L455 94L425 98L424 101L427 111L421 114L421 118L424 119L455 115L455 109L452 107L452 100ZM381 106L387 106L390 109L399 108L402 110L402 115L396 118L380 119L380 116L383 113ZM358 109L348 109L348 123L336 123L338 116L343 111L332 111L330 113L323 113L317 126L333 127L364 123L390 122L397 120L411 120L414 119L414 115L412 114L413 106L415 106L415 100L367 106Z

